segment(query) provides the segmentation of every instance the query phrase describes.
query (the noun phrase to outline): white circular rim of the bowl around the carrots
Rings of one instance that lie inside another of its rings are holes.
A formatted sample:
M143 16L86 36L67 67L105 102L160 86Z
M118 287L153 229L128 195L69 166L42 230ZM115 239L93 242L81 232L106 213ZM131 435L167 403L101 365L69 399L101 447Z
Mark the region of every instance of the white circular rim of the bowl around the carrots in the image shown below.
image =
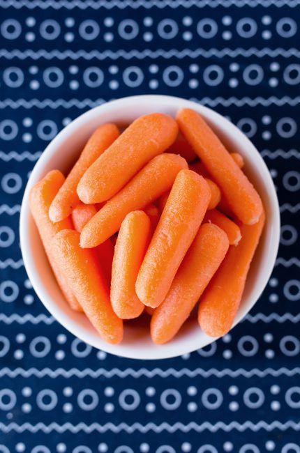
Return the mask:
M265 286L267 285L267 282L269 280L269 277L271 275L271 272L273 270L273 267L276 262L276 256L278 253L278 246L279 246L279 239L280 239L280 210L279 210L279 204L278 204L278 199L277 199L277 194L275 187L273 185L273 180L271 178L271 175L269 174L269 169L267 165L265 164L264 160L262 159L262 156L260 153L257 151L255 146L252 144L252 142L246 137L246 135L241 132L237 126L235 126L233 123L230 123L230 121L227 120L224 116L221 116L217 112L213 111L209 107L205 107L204 105L197 104L196 102L186 100L184 98L179 98L175 96L168 96L168 95L135 95L135 96L128 96L126 98L119 98L117 100L112 100L110 102L103 103L101 105L98 105L96 107L93 107L93 109L89 109L87 112L84 112L77 118L75 118L74 121L69 123L63 130L59 132L59 134L50 141L50 144L47 145L45 148L45 151L43 154L40 156L38 161L36 162L35 166L33 167L33 170L31 171L31 175L29 177L29 180L27 182L27 186L24 190L24 196L22 199L22 206L20 210L20 247L21 247L21 252L22 252L22 257L24 261L24 267L25 270L27 271L27 274L29 276L29 279L31 281L31 284L33 286L34 291L36 291L36 294L38 295L38 298L40 301L45 305L47 310L54 316L56 321L61 323L64 328L66 328L69 332L71 332L75 337L78 337L82 341L84 341L87 344L90 344L91 346L100 349L101 351L105 351L108 353L112 353L114 355L120 355L121 357L124 358L132 358L132 359L146 359L146 360L157 360L157 359L165 359L165 358L173 358L177 357L179 355L185 354L185 353L190 353L193 352L199 348L203 348L204 346L207 346L208 344L211 344L213 341L216 341L218 338L213 338L213 337L208 337L205 336L205 340L201 342L201 344L193 344L188 346L188 341L182 341L181 347L178 346L176 348L172 348L172 341L170 343L167 343L163 346L153 346L151 349L150 353L147 354L147 357L140 353L140 351L137 353L137 351L134 350L133 346L123 346L122 344L120 345L112 345L112 344L107 344L104 341L103 344L99 346L99 344L96 344L96 341L93 341L92 336L89 336L87 332L85 332L84 329L81 328L80 325L77 325L75 321L70 319L66 314L64 314L61 309L57 306L56 302L54 300L49 300L50 295L47 293L45 287L43 284L40 284L38 281L41 280L39 277L39 272L37 265L35 261L33 260L33 255L31 253L31 247L29 246L29 191L31 187L40 180L41 177L43 177L43 169L45 168L46 164L51 160L52 155L55 154L56 149L58 148L59 144L61 141L66 140L68 137L71 137L77 130L78 126L86 124L90 118L94 117L98 113L103 113L108 110L114 110L116 107L121 107L126 108L126 105L130 106L132 103L142 103L145 105L156 105L156 104L161 104L163 102L169 105L176 105L176 103L182 103L184 102L185 106L187 108L195 109L197 112L204 113L204 116L209 118L209 120L215 122L220 122L220 123L225 123L226 129L227 129L227 134L229 136L235 136L241 139L241 142L246 144L248 148L251 149L253 152L253 159L257 164L260 166L260 172L263 173L264 176L264 184L268 188L267 193L268 193L268 199L269 202L271 203L272 207L272 213L273 213L273 220L275 223L273 224L273 229L272 229L272 247L269 247L268 249L268 261L267 261L267 268L264 272L264 275L260 277L260 284L256 284L253 291L251 292L251 303L247 305L247 307L240 307L239 312L237 313L234 323L232 325L232 328L234 328L235 325L237 325L241 319L248 314L250 309L255 305L257 300L260 298L260 295L262 291L264 290ZM177 107L178 108L178 107ZM242 145L241 145L242 146ZM169 346L169 347L168 347ZM149 351L148 351L149 352Z

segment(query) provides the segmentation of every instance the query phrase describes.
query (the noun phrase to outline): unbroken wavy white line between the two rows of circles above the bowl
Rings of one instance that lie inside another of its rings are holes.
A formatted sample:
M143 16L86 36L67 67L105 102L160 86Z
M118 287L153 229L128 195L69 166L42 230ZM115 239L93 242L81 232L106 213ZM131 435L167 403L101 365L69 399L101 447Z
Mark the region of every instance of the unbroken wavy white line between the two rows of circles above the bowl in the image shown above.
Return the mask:
M216 48L211 48L209 50L207 49L202 49L198 48L195 50L190 50L190 49L170 49L170 50L164 50L164 49L157 49L157 50L150 50L150 49L144 49L142 51L140 50L130 50L126 51L123 49L119 49L115 52L112 50L105 50L104 52L100 52L99 50L91 50L87 52L86 50L58 50L58 49L53 49L51 51L47 51L45 49L39 49L39 50L32 50L32 49L12 49L12 50L6 50L6 49L0 49L0 57L6 58L8 60L11 59L20 59L24 60L27 58L31 58L33 60L38 60L40 58L44 58L46 60L51 60L51 59L59 59L59 60L64 60L64 59L86 59L86 60L91 60L91 59L98 59L98 60L105 60L105 59L111 59L111 60L117 60L119 58L123 58L125 60L130 60L130 59L157 59L160 57L163 57L164 59L171 59L171 58L176 58L176 59L183 59L186 57L190 57L192 59L195 58L224 58L225 56L230 56L231 58L236 58L237 56L243 56L245 58L248 58L249 56L255 56L256 58L264 58L265 56L269 56L270 58L277 58L278 56L284 57L284 58L290 58L291 56L295 56L297 58L300 57L300 50L292 47L290 49L283 49L281 47L278 47L276 49L270 49L269 47L264 47L263 49L257 49L256 47L250 47L250 49L243 49L241 47L237 47L237 49L230 49L228 47L225 47L224 49L216 49Z

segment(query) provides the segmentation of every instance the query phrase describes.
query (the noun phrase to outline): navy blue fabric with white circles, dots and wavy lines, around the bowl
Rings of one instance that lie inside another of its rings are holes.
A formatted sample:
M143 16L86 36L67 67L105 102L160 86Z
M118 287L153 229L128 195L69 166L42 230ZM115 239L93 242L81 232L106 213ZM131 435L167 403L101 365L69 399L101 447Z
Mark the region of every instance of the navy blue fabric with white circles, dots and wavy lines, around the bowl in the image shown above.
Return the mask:
M300 452L299 0L0 0L0 452ZM124 95L202 102L278 190L282 238L230 335L157 362L82 344L22 265L29 172L63 125Z

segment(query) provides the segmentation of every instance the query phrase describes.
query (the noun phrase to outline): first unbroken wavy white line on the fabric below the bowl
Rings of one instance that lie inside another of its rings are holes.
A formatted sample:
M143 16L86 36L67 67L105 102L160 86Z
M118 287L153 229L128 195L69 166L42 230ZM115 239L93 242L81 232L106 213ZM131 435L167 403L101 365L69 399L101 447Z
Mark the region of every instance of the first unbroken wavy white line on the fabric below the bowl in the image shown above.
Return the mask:
M121 370L118 368L113 368L113 369L104 369L104 368L98 368L98 369L77 369L77 368L71 368L71 369L63 369L63 368L57 368L57 369L50 369L50 368L43 368L43 369L36 369L36 368L29 368L29 369L23 369L23 368L16 368L16 369L9 369L8 367L4 367L0 369L0 378L3 376L8 376L9 378L17 378L18 376L21 376L22 378L31 378L32 376L36 378L45 378L49 377L52 379L55 378L72 378L72 377L77 377L77 378L86 378L90 377L93 379L98 379L100 377L105 377L105 378L113 378L113 377L118 377L118 378L127 378L131 377L134 379L146 377L146 378L155 378L155 377L160 377L160 378L182 378L183 376L188 377L188 378L196 378L196 377L202 377L202 378L210 378L211 376L216 377L216 378L224 378L226 376L230 378L237 378L239 376L243 376L244 378L253 378L253 377L259 377L259 378L265 378L267 376L272 376L272 377L279 377L279 376L287 376L287 377L293 377L293 376L299 376L300 375L300 367L294 368L294 369L287 369L285 367L282 367L280 369L272 369L272 368L267 368L267 369L257 369L253 368L250 370L246 370L243 368L239 369L222 369L218 370L215 368L211 368L208 370L204 370L201 368L197 368L194 370L188 369L188 368L183 368L183 369L174 369L174 368L169 368L169 369L160 369L160 368L154 368L154 369L146 369L146 368L140 368L140 369L132 369L128 368L125 370Z

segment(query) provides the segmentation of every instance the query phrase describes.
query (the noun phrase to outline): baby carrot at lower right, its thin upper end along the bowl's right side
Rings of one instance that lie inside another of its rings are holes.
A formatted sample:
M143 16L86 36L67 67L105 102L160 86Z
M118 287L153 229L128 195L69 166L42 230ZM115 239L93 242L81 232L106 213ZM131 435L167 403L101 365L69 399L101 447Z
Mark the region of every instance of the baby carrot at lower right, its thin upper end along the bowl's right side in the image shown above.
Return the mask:
M230 246L223 263L200 298L198 321L211 337L225 335L237 314L250 263L264 227L264 212L253 225L240 224L241 240Z

